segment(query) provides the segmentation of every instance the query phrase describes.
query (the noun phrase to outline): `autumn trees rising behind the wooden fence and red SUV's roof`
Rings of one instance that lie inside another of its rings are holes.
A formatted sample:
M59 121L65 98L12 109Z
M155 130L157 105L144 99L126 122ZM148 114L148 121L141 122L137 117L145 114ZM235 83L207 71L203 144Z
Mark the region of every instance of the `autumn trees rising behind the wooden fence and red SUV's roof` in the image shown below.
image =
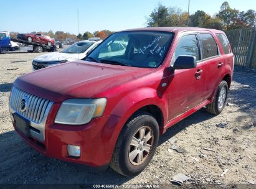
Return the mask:
M255 26L256 12L252 9L239 11L232 9L229 2L225 1L220 6L219 12L210 16L204 11L188 12L177 7L166 7L158 4L147 19L147 27L187 26L206 27L219 30L232 30L252 28Z

